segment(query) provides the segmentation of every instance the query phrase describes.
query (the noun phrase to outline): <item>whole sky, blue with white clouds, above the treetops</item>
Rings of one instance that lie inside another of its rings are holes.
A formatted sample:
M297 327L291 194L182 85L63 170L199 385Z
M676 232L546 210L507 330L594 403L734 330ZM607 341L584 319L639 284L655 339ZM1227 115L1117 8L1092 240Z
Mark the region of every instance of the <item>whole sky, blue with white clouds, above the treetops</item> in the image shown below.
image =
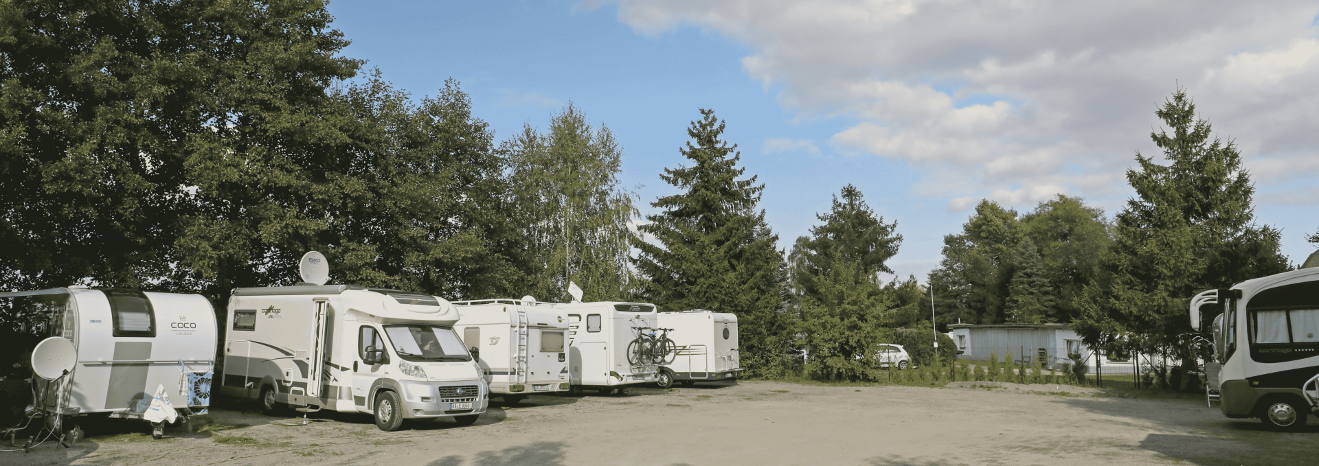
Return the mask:
M1266 5L1266 7L1262 7ZM448 78L503 141L568 103L624 150L641 213L678 191L686 129L727 122L791 247L856 186L904 241L897 276L991 199L1057 194L1112 217L1136 155L1161 157L1155 108L1178 88L1256 184L1256 220L1301 263L1319 230L1319 4L1314 1L332 0L332 28L414 97Z

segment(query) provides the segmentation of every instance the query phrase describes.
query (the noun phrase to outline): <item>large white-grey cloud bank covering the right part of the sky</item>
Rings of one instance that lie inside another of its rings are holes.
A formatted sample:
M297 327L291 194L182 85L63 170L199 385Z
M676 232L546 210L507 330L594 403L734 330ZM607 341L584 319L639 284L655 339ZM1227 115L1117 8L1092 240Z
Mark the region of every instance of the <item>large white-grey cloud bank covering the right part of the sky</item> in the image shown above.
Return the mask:
M1175 86L1256 182L1319 180L1312 1L584 4L617 4L641 34L695 26L745 45L743 68L785 107L859 120L831 142L926 168L918 194L948 208L1055 192L1115 205L1134 151L1158 155L1154 109Z

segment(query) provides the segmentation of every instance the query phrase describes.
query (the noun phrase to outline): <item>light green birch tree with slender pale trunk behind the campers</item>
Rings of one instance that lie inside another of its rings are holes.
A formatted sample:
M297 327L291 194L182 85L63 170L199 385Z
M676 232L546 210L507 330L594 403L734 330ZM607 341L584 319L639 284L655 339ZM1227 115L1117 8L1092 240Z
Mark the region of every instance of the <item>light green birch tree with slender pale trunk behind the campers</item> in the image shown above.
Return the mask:
M568 282L584 301L628 300L636 279L628 267L636 195L619 182L623 149L608 126L591 128L571 103L501 147L509 166L517 224L526 236L526 292L568 300Z

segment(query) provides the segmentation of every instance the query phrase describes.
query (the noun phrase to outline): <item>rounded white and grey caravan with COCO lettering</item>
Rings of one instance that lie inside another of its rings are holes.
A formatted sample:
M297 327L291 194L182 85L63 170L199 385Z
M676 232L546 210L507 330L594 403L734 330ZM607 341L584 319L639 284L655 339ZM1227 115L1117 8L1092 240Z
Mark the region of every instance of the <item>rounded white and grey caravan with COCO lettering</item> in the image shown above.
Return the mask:
M77 351L77 363L65 379L33 378L38 409L142 419L161 386L173 395L170 404L185 421L210 405L216 323L206 298L86 287L4 292L0 298L12 299L15 315L41 315L38 329L47 337L69 338ZM57 409L57 400L62 409ZM160 434L157 425L154 437Z

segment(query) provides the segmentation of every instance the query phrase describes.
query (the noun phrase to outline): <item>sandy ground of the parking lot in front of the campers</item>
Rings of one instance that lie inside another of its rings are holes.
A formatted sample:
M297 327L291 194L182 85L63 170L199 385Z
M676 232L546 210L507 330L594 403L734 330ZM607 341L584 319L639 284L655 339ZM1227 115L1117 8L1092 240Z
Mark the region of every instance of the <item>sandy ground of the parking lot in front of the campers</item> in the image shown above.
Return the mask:
M291 415L218 409L215 424L197 433L152 441L141 424L84 427L91 437L73 449L47 442L33 453L0 453L0 463L1312 465L1319 458L1314 417L1306 432L1275 433L1203 403L1059 394L1067 390L777 382L632 388L615 396L533 396L513 407L496 398L476 425L431 421L392 433L365 415L284 425Z

